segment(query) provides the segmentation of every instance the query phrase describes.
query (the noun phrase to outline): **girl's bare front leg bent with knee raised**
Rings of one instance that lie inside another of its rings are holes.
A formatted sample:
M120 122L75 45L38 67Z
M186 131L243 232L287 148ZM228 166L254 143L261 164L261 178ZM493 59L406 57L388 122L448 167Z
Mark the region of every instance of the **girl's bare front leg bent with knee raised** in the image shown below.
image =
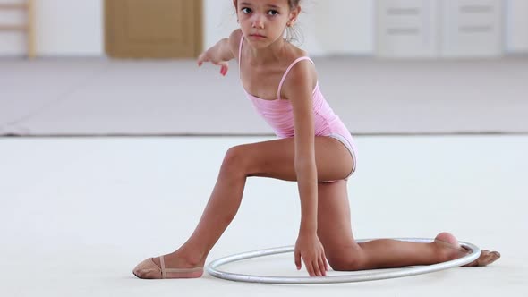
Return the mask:
M350 173L352 157L338 140L316 137L315 150L319 180L343 179ZM203 266L209 250L236 215L249 176L296 181L294 138L247 144L228 150L200 223L182 247L164 256L166 267ZM159 259L153 260L159 267ZM141 277L141 271L134 271L134 274Z

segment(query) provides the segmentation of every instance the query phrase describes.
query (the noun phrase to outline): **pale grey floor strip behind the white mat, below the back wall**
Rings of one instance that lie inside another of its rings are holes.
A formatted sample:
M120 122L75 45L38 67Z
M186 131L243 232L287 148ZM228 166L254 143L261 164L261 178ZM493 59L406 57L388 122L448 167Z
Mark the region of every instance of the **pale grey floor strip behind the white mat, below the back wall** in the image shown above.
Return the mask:
M354 134L528 133L528 58L314 59ZM269 135L226 77L192 60L0 59L0 135Z

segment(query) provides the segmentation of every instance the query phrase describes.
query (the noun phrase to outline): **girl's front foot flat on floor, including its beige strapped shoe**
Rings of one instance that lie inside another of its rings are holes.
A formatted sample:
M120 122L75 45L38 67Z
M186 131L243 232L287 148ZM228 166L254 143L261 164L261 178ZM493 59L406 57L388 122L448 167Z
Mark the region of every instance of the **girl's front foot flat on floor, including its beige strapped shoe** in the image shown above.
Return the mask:
M179 257L176 252L142 261L132 273L146 279L196 278L203 274L203 263Z

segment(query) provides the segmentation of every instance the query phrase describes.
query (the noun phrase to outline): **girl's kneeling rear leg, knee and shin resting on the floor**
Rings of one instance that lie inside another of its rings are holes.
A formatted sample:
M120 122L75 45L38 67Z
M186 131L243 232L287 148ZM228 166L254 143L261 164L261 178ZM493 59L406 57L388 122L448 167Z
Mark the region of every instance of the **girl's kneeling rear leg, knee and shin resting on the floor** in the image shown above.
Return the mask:
M335 270L430 265L466 254L457 249L458 242L449 233L437 235L437 239L442 242L418 243L389 239L355 242L345 181L319 183L318 201L319 240L325 248L330 267ZM490 264L499 257L497 252L483 252L479 264Z

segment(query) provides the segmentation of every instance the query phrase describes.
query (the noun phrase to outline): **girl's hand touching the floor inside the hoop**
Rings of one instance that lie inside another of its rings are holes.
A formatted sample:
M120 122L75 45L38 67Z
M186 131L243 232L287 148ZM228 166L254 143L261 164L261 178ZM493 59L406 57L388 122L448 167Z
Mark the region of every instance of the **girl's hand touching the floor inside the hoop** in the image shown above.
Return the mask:
M301 259L310 276L327 276L328 263L323 245L316 234L300 234L295 242L295 265L302 267Z

